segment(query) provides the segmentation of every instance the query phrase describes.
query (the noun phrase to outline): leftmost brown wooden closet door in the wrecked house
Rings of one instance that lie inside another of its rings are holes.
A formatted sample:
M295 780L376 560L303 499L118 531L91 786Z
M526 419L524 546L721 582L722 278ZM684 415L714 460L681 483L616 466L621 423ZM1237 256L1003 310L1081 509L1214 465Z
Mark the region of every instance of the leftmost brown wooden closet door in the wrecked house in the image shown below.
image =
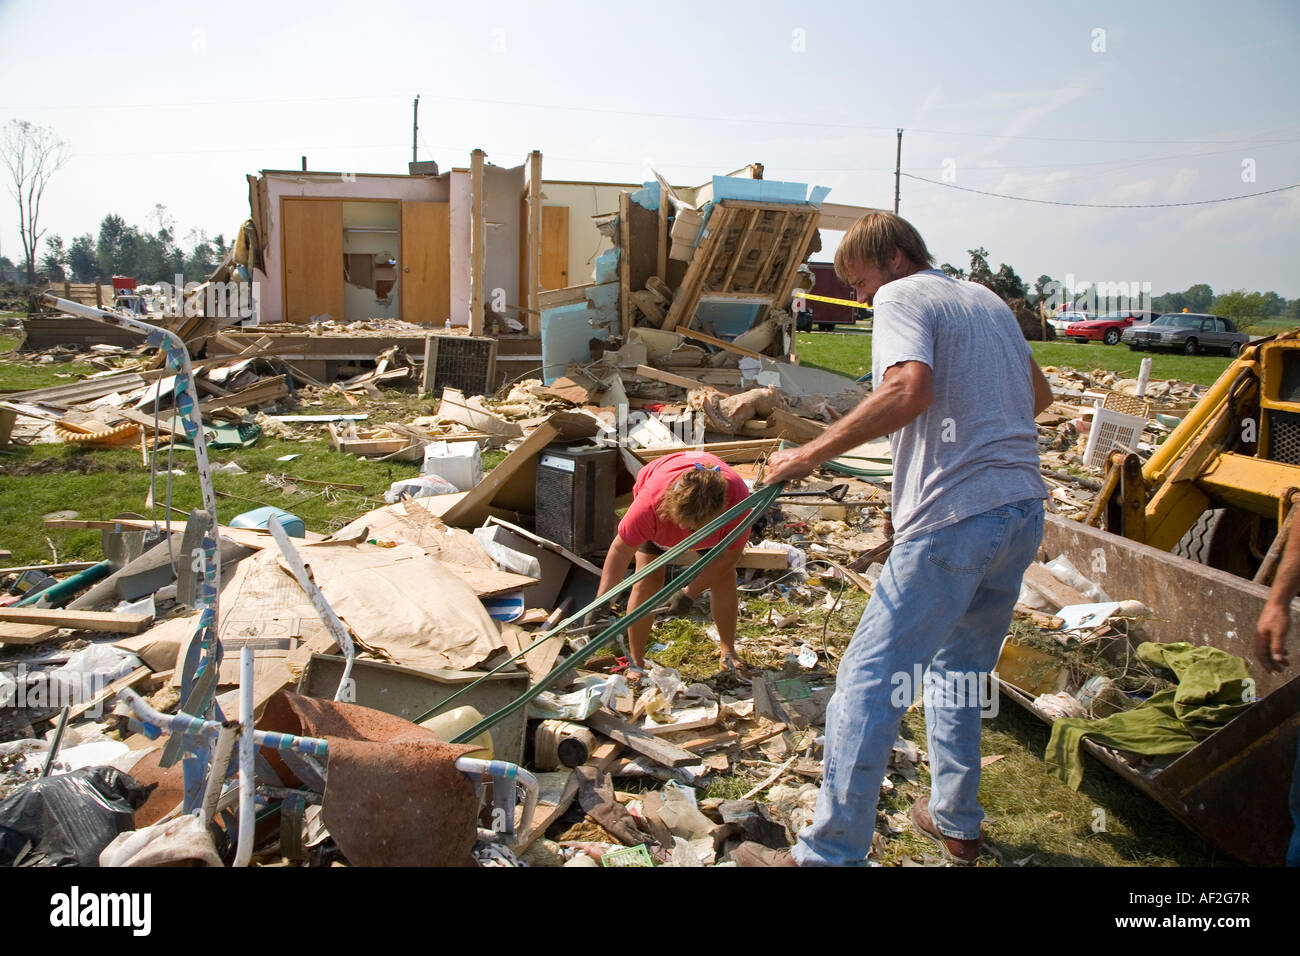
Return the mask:
M285 254L285 321L343 320L343 203L281 202Z

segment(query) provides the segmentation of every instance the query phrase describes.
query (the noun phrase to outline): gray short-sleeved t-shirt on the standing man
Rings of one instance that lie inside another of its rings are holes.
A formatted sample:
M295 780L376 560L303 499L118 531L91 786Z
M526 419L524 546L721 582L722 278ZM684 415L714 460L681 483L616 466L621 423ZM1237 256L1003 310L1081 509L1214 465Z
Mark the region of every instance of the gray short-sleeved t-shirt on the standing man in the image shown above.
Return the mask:
M1030 346L1006 303L927 269L883 285L874 306L871 380L923 362L935 381L930 407L889 436L894 540L1046 497Z

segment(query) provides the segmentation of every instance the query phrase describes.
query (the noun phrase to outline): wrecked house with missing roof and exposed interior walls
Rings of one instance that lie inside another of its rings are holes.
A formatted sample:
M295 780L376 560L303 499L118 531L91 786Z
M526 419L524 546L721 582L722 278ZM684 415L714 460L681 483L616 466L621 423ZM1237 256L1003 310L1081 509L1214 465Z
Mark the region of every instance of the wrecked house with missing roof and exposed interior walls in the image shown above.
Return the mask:
M330 363L373 359L374 345L419 356L426 330L494 338L498 384L538 368L550 382L633 328L789 355L793 328L776 319L798 267L820 248L819 229L864 212L824 204L823 187L766 181L759 164L696 187L543 179L541 169L537 151L507 168L476 150L442 173L421 163L410 174L250 176L257 325L384 333L356 349L281 342L318 377Z

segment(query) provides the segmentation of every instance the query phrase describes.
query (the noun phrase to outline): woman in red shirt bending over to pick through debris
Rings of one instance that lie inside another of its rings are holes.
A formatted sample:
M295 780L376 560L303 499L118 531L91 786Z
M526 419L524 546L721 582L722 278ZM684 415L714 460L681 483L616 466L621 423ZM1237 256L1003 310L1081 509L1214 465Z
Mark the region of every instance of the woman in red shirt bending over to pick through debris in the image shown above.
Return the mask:
M749 486L745 479L716 455L707 451L679 451L658 458L642 468L632 488L632 507L619 522L619 533L604 555L599 594L623 580L633 555L640 571L664 550L681 544L718 515L748 498ZM708 550L740 523L741 519L737 518L697 548L701 551ZM722 643L722 663L737 671L744 662L736 656L736 562L744 550L745 538L741 537L685 589L692 598L705 591L711 592L714 623ZM637 581L628 597L628 610L645 604L663 588L663 570ZM647 617L628 628L628 653L636 667L645 667L646 641L651 627L654 618Z

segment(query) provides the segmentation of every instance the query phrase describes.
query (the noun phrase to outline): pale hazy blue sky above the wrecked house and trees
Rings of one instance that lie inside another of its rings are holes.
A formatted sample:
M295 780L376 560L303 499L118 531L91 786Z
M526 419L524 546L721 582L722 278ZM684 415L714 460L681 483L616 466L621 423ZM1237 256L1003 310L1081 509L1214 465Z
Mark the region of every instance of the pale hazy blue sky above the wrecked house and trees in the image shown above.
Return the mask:
M742 12L741 12L742 10ZM1097 33L1104 31L1104 33ZM1104 49L1101 48L1104 46ZM43 224L107 212L230 237L244 173L404 172L473 147L547 178L767 178L892 207L905 173L1069 203L1171 203L1300 183L1291 3L13 3L0 122L53 126L73 159ZM1253 160L1254 182L1243 182ZM1300 189L1217 206L1039 206L904 178L940 261L984 246L1032 282L1209 282L1300 297ZM835 237L827 237L833 239ZM21 256L0 200L0 250Z

